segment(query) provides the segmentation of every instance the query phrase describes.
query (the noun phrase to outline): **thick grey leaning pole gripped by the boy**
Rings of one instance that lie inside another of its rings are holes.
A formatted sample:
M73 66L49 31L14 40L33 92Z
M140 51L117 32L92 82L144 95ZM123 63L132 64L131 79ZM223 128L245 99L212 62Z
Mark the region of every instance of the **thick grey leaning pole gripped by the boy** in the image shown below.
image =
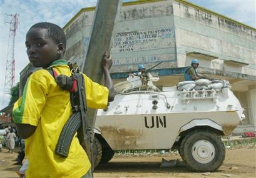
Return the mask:
M83 73L100 84L103 83L101 60L105 51L110 52L111 37L114 34L120 6L121 0L98 0L97 2ZM96 113L96 109L88 109L91 128L95 126Z

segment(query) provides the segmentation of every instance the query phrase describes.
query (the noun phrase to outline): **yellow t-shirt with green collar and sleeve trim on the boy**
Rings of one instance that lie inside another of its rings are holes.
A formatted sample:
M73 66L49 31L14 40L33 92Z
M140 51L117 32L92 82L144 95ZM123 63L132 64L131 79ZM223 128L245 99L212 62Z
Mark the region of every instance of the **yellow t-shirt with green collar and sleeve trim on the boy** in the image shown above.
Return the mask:
M71 76L64 60L54 61L51 67L58 74ZM85 75L84 83L88 107L105 108L108 89ZM14 122L36 126L33 135L25 140L25 154L29 162L26 177L80 178L88 172L91 164L76 135L67 158L54 153L61 130L71 114L69 92L57 86L49 71L41 69L31 74L23 96L13 108Z

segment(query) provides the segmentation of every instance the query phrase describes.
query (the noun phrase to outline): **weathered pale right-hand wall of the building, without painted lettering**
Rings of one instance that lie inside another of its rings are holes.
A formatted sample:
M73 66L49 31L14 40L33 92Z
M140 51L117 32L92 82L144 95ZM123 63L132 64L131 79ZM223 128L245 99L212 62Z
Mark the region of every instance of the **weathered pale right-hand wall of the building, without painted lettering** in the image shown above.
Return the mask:
M255 76L256 30L242 26L197 7L173 1L178 67L187 65L188 52L216 56L219 60L203 61L209 68ZM245 62L247 66L225 64Z

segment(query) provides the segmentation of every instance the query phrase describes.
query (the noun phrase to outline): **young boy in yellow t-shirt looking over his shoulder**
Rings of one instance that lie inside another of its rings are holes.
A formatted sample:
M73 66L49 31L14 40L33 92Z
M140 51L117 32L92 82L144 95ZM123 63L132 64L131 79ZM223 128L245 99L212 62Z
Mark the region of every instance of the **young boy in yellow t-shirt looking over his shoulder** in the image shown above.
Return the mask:
M23 95L13 109L19 135L26 139L25 154L29 162L26 177L90 177L91 164L76 135L68 157L54 153L59 134L72 114L69 92L60 89L46 70L53 68L58 75L71 76L62 58L66 47L63 29L48 22L34 24L26 34L25 44L31 64L43 67L29 76ZM106 54L102 62L105 87L84 75L88 107L103 109L113 101L111 65Z

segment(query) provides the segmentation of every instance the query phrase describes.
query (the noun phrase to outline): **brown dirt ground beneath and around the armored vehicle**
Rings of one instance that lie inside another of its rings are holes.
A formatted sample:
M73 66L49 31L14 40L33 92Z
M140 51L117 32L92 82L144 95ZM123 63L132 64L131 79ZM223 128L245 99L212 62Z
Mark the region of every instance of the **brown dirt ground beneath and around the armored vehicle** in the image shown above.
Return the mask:
M9 154L4 149L0 153L0 177L14 178L20 166L13 165L12 161L16 153ZM243 146L226 150L226 158L217 172L210 172L209 176L203 176L202 172L191 172L185 166L161 168L161 159L180 159L178 154L165 156L116 156L108 164L97 167L95 178L160 178L160 177L256 177L256 147ZM224 176L226 175L226 176Z

